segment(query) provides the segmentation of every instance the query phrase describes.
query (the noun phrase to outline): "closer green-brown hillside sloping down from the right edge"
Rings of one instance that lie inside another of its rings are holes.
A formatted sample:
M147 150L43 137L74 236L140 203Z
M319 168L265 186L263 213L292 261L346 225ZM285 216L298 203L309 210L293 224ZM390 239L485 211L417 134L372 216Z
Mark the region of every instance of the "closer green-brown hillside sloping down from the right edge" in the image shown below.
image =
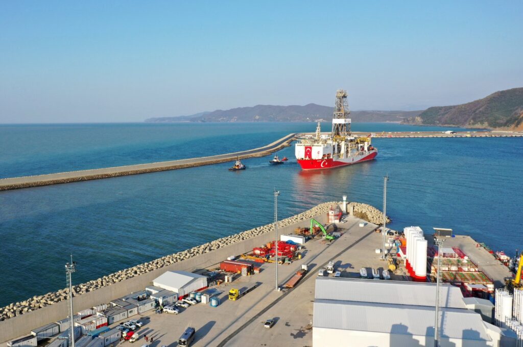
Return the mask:
M462 105L430 107L404 123L523 130L523 88L496 91Z

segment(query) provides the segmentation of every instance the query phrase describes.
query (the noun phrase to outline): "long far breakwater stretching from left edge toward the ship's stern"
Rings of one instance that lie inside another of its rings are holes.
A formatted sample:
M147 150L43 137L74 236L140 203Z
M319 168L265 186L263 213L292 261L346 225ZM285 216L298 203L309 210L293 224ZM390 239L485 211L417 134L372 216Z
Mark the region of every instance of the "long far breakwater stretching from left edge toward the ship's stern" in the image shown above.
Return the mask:
M263 157L279 151L283 147L290 146L294 140L294 134L289 134L267 146L249 149L247 151L220 154L209 157L191 158L161 161L150 164L137 164L110 167L103 169L79 170L71 172L49 173L47 175L13 177L0 179L0 191L21 189L29 187L49 186L50 184L61 184L78 181L96 180L102 178L138 175L139 173L149 173L166 170L176 170L195 166L225 163L226 161L236 160L236 158L246 159L252 157Z

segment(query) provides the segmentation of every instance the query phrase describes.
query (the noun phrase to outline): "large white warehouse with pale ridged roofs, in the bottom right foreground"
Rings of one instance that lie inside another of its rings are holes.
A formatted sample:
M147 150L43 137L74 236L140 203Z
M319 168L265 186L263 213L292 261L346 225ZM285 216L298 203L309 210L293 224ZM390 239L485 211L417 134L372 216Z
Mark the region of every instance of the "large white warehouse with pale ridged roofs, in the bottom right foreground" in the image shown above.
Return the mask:
M314 347L434 345L434 283L318 277L314 297ZM439 346L515 346L515 335L465 307L458 287L440 285L439 298Z

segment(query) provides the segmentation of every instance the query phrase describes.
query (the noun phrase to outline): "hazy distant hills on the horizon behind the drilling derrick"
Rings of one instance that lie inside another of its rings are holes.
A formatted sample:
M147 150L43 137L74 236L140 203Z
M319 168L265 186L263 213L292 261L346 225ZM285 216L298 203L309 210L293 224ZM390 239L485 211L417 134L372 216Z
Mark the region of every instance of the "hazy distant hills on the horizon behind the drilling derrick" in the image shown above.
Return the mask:
M272 106L256 105L238 107L230 110L216 110L180 117L158 117L146 122L312 122L332 118L334 108L316 105ZM416 117L421 111L353 111L353 122L390 122Z

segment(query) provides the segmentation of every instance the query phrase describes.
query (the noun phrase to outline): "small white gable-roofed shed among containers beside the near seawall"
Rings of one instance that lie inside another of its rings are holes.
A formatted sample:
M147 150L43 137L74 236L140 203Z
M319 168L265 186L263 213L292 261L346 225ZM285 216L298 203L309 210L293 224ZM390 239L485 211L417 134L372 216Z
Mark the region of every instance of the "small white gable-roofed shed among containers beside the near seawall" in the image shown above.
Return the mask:
M186 271L167 271L153 280L153 285L178 294L178 297L190 292L207 288L207 276Z

